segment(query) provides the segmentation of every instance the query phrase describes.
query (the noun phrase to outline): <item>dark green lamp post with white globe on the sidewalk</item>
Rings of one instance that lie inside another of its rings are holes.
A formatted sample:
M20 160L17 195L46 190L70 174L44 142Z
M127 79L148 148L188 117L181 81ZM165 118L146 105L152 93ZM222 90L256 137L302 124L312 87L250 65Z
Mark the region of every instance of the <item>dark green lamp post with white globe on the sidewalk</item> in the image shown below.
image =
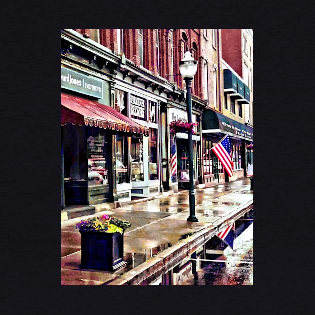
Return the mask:
M185 52L183 59L179 62L179 71L186 83L187 88L187 109L188 123L192 123L192 103L191 103L191 86L194 75L197 72L198 61L194 60L189 51ZM188 132L189 143L189 217L187 221L198 222L195 216L195 198L194 198L194 182L193 182L193 145L192 130Z

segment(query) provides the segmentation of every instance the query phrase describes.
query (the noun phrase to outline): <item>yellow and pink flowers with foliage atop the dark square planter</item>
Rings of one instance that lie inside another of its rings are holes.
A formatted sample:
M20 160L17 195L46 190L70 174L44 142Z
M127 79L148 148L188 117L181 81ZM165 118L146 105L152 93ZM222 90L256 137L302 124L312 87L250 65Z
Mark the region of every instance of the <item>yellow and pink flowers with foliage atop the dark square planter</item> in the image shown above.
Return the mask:
M120 233L122 234L127 228L131 226L131 223L126 220L120 220L114 216L104 214L103 216L97 216L82 220L76 224L76 228L80 231L88 232L102 232L102 233Z

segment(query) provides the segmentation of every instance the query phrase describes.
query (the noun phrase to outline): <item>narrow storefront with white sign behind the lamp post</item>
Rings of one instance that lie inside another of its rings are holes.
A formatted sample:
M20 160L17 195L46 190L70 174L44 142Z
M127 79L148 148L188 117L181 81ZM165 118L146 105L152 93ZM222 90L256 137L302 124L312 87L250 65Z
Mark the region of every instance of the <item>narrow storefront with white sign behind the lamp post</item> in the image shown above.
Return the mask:
M186 111L169 108L168 109L168 122L171 124L174 121L186 122L188 114ZM197 116L192 114L192 122L195 124L194 133L198 130ZM200 151L200 135L193 134L193 178L194 185L198 183L200 174L200 160L197 158ZM170 130L170 148L171 148L171 171L170 177L172 183L178 183L179 189L188 189L189 187L189 143L188 133L183 130L182 132L172 132Z

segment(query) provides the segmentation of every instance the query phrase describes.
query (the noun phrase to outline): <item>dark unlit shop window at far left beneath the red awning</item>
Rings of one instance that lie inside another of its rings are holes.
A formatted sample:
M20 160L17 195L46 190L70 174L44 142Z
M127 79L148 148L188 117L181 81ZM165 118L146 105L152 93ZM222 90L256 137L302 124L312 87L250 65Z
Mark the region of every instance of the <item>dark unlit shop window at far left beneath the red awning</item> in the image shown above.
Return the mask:
M64 180L87 180L85 129L76 125L63 127Z

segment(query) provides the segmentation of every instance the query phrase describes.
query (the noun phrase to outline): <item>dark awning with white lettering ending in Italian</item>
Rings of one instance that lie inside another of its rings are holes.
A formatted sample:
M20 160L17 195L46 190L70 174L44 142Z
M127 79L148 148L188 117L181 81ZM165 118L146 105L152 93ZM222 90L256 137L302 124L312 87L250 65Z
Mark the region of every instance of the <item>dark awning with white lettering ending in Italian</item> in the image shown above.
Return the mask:
M202 133L222 133L253 142L253 128L211 109L202 115Z

